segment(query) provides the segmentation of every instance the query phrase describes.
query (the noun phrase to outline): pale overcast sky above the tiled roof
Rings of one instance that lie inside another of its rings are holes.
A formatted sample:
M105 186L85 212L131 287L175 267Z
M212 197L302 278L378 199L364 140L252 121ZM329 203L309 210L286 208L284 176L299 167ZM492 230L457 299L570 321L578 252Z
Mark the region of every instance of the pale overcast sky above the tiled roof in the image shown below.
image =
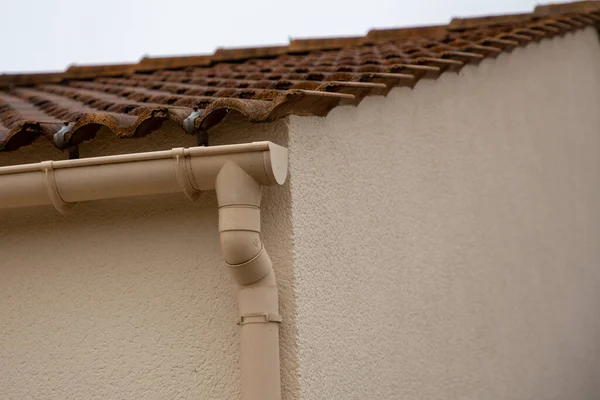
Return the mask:
M528 12L535 0L0 0L1 72L136 62L289 38Z

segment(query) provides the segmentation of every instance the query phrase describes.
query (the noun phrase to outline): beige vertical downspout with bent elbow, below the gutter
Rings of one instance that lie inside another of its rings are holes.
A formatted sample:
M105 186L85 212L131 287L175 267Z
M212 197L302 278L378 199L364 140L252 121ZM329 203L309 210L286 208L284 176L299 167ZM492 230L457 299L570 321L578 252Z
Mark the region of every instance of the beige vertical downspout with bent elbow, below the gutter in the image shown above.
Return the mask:
M215 189L223 257L238 286L242 399L281 399L279 301L273 264L260 240L262 186L233 162Z

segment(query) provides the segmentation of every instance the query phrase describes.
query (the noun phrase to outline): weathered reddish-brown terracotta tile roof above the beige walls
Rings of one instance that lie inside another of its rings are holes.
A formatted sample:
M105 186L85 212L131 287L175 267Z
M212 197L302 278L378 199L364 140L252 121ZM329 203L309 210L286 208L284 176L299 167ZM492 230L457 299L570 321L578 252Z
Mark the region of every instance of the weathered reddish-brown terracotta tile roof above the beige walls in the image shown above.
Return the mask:
M251 122L324 116L338 105L413 87L532 41L598 27L599 4L539 6L532 14L455 18L446 26L375 29L364 37L295 39L288 46L212 55L144 57L136 64L71 66L62 73L0 75L0 150L40 136L70 148L101 127L118 137L144 136L167 120L196 133L230 114Z

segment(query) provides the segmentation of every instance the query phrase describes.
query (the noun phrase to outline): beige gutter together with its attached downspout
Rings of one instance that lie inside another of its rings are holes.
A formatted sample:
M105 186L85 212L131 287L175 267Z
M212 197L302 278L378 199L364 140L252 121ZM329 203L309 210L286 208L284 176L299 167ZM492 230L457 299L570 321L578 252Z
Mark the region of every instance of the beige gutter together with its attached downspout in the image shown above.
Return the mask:
M287 149L271 142L176 148L0 167L0 208L184 192L217 192L225 261L238 284L242 399L281 399L279 302L260 239L262 186L282 185Z

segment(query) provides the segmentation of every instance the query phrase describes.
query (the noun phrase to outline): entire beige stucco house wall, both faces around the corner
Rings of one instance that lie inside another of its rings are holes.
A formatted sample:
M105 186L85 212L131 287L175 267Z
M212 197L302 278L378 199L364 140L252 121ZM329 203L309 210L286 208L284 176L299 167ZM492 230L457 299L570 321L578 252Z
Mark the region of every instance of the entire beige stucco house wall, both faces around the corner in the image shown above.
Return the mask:
M599 393L599 89L586 31L327 118L214 132L291 149L263 207L284 398ZM167 128L81 153L193 145ZM40 140L0 165L48 158L64 155ZM214 193L0 211L0 399L238 398L216 217Z

